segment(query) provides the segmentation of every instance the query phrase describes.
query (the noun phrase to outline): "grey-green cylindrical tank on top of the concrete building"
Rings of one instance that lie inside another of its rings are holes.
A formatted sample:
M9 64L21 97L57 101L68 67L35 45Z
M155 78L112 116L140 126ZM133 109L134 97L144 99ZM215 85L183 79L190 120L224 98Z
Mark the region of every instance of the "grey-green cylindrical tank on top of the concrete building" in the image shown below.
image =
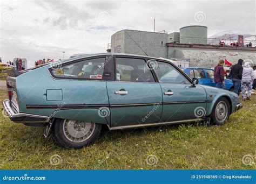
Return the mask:
M179 29L180 44L207 44L207 27L192 25Z

